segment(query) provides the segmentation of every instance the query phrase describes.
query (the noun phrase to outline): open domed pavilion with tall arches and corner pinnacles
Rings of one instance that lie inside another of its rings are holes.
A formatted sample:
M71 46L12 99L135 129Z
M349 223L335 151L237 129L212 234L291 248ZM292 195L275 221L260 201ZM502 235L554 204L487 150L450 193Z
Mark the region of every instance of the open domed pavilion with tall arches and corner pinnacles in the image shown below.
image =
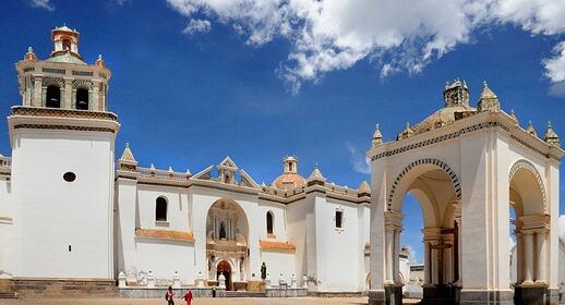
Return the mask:
M423 217L423 304L557 304L558 167L551 127L521 129L484 84L477 108L456 81L444 108L383 143L371 159L370 304L401 304L399 236L405 195ZM510 283L510 208L517 279ZM542 303L536 303L542 302Z

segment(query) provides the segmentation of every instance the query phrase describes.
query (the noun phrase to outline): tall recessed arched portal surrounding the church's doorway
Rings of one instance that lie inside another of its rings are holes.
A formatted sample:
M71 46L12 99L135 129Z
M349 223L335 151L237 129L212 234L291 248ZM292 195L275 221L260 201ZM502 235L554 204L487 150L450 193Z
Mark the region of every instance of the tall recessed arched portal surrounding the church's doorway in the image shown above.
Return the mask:
M230 265L230 286L249 279L249 223L241 206L232 199L216 200L206 218L208 279L217 280L219 263ZM226 266L226 265L224 265ZM226 277L227 278L227 277Z

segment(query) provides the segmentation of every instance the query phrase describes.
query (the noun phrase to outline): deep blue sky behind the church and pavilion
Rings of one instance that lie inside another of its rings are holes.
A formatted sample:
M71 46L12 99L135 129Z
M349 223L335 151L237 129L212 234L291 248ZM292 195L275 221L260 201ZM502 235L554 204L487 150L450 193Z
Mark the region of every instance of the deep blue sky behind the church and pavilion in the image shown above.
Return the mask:
M348 35L351 19L363 20L347 15L359 13L354 8L328 26L288 8L280 13L281 4L252 14L191 0L7 1L0 110L8 115L21 101L13 64L28 46L47 58L51 28L65 23L81 32L83 58L93 63L101 53L112 70L109 107L122 124L118 154L129 142L141 166L193 173L230 156L260 183L281 172L282 157L296 155L303 175L317 163L329 181L357 187L369 180L363 154L375 123L393 139L406 122L442 107L442 88L455 77L467 81L473 103L486 80L522 125L531 120L543 134L551 120L565 135L565 51L562 58L558 48L565 22L543 8L513 11L516 0L500 2L507 2L507 13L488 17L461 7L469 19L464 25L445 16L436 26L442 14L426 17L419 10ZM407 27L414 16L422 26ZM388 39L378 26L399 37ZM335 30L334 38L306 39L321 28ZM0 124L0 152L10 155L7 124ZM406 202L402 243L421 258L420 210L412 197Z

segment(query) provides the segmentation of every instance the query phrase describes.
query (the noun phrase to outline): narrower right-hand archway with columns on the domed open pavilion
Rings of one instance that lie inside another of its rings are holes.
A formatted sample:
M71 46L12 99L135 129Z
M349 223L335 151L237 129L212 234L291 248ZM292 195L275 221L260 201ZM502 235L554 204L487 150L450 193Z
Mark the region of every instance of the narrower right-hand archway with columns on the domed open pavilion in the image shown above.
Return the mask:
M514 209L516 249L512 266L516 270L514 300L517 304L543 297L549 288L550 233L543 180L536 167L518 160L509 171L509 204ZM512 225L510 225L512 227Z

